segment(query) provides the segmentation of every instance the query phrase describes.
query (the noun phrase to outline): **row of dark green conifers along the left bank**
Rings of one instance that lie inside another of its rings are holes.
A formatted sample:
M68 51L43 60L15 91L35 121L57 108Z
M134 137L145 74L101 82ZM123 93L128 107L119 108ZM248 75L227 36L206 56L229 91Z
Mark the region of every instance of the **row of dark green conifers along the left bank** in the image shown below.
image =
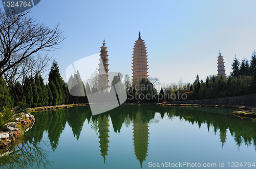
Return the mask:
M75 97L69 94L67 83L60 76L56 61L53 61L47 84L39 74L35 78L26 76L23 84L17 82L14 89L10 90L3 77L0 77L1 109L12 108L20 103L26 103L27 107L40 107L88 102L86 96Z

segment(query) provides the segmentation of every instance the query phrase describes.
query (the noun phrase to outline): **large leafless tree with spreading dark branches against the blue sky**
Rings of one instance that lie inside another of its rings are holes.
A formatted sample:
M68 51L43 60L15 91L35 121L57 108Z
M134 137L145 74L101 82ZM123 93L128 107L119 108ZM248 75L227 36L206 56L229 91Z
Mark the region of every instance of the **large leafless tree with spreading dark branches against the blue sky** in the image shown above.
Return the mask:
M29 11L11 16L0 11L0 76L20 63L38 58L38 51L59 48L64 39L59 24L50 28L33 20Z

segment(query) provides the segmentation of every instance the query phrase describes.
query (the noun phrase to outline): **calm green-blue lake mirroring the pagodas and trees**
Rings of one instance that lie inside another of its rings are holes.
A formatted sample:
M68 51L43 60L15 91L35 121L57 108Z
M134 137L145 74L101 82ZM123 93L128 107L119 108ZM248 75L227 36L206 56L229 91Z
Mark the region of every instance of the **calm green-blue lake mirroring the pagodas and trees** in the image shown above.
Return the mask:
M122 105L98 116L92 116L89 106L35 112L35 124L22 144L0 158L1 167L152 168L158 163L172 167L183 162L183 167L216 164L219 168L220 163L228 167L228 162L230 168L238 163L242 167L241 162L243 167L245 162L253 165L256 123L234 117L232 111Z

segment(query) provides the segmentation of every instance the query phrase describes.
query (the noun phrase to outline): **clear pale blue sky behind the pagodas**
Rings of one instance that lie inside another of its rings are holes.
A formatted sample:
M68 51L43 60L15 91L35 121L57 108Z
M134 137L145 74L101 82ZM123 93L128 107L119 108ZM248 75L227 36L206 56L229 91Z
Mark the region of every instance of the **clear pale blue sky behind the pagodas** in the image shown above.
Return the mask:
M31 16L49 26L60 23L67 38L50 54L63 79L70 64L98 53L103 39L110 72L132 76L133 45L140 31L148 52L148 75L167 84L217 74L219 50L227 75L235 54L240 61L250 60L256 48L255 7L256 1L234 0L41 0Z

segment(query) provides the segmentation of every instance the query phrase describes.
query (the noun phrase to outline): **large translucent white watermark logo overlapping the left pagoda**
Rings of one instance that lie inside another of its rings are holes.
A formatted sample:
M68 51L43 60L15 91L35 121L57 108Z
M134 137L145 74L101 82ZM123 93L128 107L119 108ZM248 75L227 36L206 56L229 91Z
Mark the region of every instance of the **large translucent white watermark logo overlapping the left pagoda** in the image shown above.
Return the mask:
M104 61L99 58L97 53L74 62L66 69L70 95L87 96L93 115L114 109L127 99L121 82L122 74L105 73Z

